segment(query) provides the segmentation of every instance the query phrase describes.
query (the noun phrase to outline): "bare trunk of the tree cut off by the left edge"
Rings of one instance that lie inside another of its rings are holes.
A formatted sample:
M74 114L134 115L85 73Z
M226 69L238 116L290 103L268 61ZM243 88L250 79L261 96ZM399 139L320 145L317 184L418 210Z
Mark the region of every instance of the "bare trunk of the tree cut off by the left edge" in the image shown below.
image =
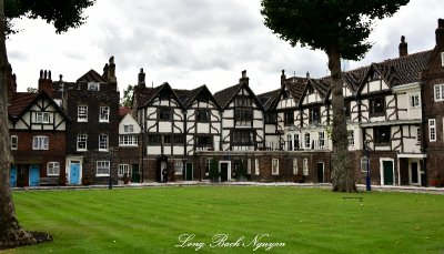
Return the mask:
M3 0L0 0L0 250L2 250L34 244L36 238L19 225L9 185L12 155L8 130L7 73L10 67L4 37Z

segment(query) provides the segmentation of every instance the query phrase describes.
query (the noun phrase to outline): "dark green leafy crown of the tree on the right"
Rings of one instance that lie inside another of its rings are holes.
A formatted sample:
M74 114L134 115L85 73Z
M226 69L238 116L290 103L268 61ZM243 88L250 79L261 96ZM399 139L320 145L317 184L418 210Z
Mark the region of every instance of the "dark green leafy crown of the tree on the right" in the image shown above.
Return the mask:
M361 59L375 19L393 16L408 0L262 0L264 23L291 45L339 49L341 58Z

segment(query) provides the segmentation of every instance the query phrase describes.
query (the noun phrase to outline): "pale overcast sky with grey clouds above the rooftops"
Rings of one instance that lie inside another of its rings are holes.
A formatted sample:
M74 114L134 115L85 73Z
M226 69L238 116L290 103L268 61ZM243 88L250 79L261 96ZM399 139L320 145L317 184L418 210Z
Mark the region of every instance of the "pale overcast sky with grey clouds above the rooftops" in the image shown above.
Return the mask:
M63 34L43 21L16 22L22 31L7 48L19 91L37 88L41 69L72 82L90 69L101 74L111 55L121 91L137 83L140 68L154 87L206 84L212 92L238 83L246 70L256 94L278 89L283 69L287 77L327 75L323 52L292 48L265 28L260 0L97 0L85 16L85 24ZM396 58L401 35L408 53L432 49L438 18L442 0L412 0L376 23L373 48L349 69Z

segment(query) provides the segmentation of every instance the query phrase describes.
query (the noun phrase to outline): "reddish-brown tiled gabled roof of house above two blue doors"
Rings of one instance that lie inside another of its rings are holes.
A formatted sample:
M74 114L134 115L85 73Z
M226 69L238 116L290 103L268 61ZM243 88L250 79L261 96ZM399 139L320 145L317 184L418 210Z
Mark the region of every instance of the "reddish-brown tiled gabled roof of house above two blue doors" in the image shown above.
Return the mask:
M23 115L38 100L47 99L58 112L63 115L65 120L70 120L68 114L54 102L54 100L48 95L47 92L41 91L40 93L16 93L12 96L11 105L8 106L8 114L12 121Z

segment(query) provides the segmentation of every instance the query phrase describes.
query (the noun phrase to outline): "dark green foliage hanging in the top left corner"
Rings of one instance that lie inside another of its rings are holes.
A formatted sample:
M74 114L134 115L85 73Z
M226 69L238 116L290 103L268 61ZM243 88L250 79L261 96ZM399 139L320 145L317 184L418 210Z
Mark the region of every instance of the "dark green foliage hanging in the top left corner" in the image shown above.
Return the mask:
M95 0L4 0L6 33L14 33L13 19L42 19L52 23L57 33L78 28L85 22L83 9Z

